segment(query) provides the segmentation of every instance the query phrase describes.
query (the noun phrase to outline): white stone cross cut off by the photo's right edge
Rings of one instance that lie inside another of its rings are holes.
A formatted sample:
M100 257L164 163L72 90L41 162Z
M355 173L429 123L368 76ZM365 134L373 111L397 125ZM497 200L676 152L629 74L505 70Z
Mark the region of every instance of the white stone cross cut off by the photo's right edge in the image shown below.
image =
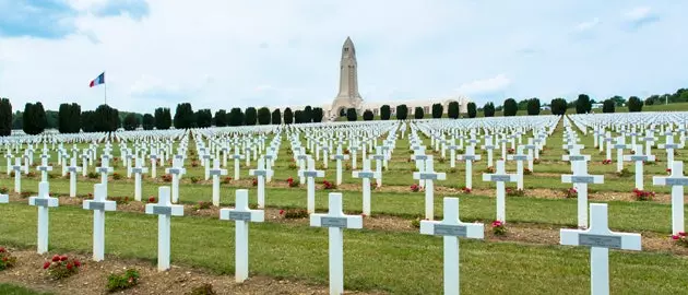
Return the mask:
M668 177L654 176L655 186L672 186L672 234L686 232L684 227L684 187L688 186L688 177L684 176L684 162L672 162L672 175Z

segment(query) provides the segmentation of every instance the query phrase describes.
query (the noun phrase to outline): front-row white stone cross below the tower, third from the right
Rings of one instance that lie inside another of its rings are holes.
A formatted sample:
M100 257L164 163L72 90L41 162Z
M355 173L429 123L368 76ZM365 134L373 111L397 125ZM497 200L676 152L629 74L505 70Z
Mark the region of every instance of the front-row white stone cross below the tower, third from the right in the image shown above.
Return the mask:
M330 294L344 293L344 228L363 228L360 215L345 215L342 193L330 192L328 214L310 214L310 226L329 227L330 236Z

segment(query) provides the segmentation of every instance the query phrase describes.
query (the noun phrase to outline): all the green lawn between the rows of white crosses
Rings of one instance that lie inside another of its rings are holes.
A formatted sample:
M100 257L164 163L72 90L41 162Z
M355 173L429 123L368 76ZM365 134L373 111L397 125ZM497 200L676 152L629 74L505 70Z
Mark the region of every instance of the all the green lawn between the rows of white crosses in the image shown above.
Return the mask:
M676 106L678 104L672 105ZM688 104L686 104L688 105ZM648 106L647 106L648 107ZM659 106L657 106L659 107ZM582 151L590 154L590 174L605 175L605 184L591 185L590 189L602 192L628 192L633 188L633 177L616 176L616 163L602 165L605 158L593 148L591 134L579 132ZM430 140L423 138L430 153ZM678 140L678 138L675 138ZM380 142L378 140L378 142ZM659 142L664 142L660 138ZM303 139L303 144L306 144ZM570 174L570 165L561 161L561 125L547 139L547 150L541 156L542 163L535 165L535 174L525 176L527 189L566 189L570 184L562 184L561 174ZM190 143L190 146L193 144ZM71 145L66 145L71 149ZM84 145L80 145L83 148ZM39 146L41 148L41 146ZM292 156L287 154L289 143L283 139L280 157L276 162L274 182L284 182L286 178L297 178L296 169L288 168ZM40 149L39 149L40 150ZM383 174L385 187L396 187L399 192L372 192L372 214L392 215L412 219L424 214L424 193L411 193L408 186L416 182L412 178L415 169L406 158L411 156L406 139L400 139L393 152L390 168ZM482 151L481 151L482 152ZM35 154L39 161L38 151ZM112 146L114 156L119 155L119 144ZM665 153L653 150L659 158ZM98 155L100 152L98 153ZM55 165L52 174L58 175L57 153L51 152L50 162ZM449 152L447 153L449 155ZM360 156L360 153L359 153ZM616 161L616 151L613 152ZM188 174L180 186L180 201L191 204L210 201L210 184L191 184L190 179L203 178L201 167L191 167L195 156L189 154ZM436 158L440 153L436 154ZM496 151L495 160L501 157ZM481 221L489 224L495 219L495 184L482 181L486 168L486 155L474 164L473 185L475 189L489 189L487 193L461 194L461 216L463 221ZM688 160L688 154L679 151L677 160ZM0 160L0 172L4 172L4 161ZM244 163L244 162L242 162ZM120 163L111 163L116 173L126 176ZM251 163L254 165L254 162ZM361 166L360 160L358 161ZM464 185L464 163L456 162L456 170L450 172L449 161L436 162L436 170L447 172L447 180L436 186L461 188ZM645 188L657 192L668 192L668 188L653 187L652 176L666 175L666 163L647 165ZM327 177L334 181L335 162L329 162ZM631 163L625 167L633 172ZM508 170L513 172L515 164L509 162ZM90 167L91 170L94 167ZM35 169L32 169L35 170ZM228 176L233 175L233 162L228 162ZM164 168L158 167L158 178ZM39 175L39 174L38 174ZM344 209L358 214L361 211L360 180L351 177L351 170L343 173L346 189L343 192ZM247 179L248 168L241 168L241 177ZM25 191L36 192L38 177L22 180ZM93 185L98 179L80 178L78 193L93 192ZM0 187L13 188L13 179L0 175ZM246 182L244 182L246 184ZM58 194L69 193L69 180L56 177L50 180L50 190ZM155 196L159 186L169 184L153 181L144 177L143 198ZM514 187L515 184L510 185ZM110 180L108 193L111 197L133 197L132 180ZM249 188L251 203L256 202L254 188L236 181L222 185L221 203L234 204L234 190ZM327 212L328 193L318 185L316 206L319 212ZM454 194L456 196L456 194ZM442 197L436 193L435 213L441 217ZM450 196L453 197L453 196ZM266 190L269 208L305 208L306 188L277 188ZM609 226L616 231L636 233L659 233L668 235L671 231L671 205L653 201L629 202L609 201ZM687 212L688 214L688 212ZM507 220L509 223L523 223L535 227L570 227L577 223L576 199L539 199L531 197L507 198ZM50 210L50 250L91 251L92 214L78 206L63 205ZM365 222L364 222L365 223ZM0 245L13 245L22 248L35 248L36 209L25 203L0 205ZM142 212L107 213L106 253L122 258L138 258L155 263L156 259L156 216ZM328 234L322 228L310 228L296 224L278 224L268 221L264 224L251 224L250 269L256 274L273 278L295 278L308 282L327 284L328 281ZM379 290L394 294L440 294L442 291L442 240L418 233L403 233L378 229L346 231L345 237L345 287L348 290ZM519 243L486 243L476 240L461 241L461 286L464 294L589 294L590 267L589 251L583 248L562 246L530 245ZM683 256L667 252L610 252L612 291L618 294L679 294L688 290L684 280L688 260ZM234 224L218 221L216 217L185 216L173 220L174 263L210 269L217 273L234 272ZM2 292L0 286L0 294ZM22 293L20 293L22 294Z

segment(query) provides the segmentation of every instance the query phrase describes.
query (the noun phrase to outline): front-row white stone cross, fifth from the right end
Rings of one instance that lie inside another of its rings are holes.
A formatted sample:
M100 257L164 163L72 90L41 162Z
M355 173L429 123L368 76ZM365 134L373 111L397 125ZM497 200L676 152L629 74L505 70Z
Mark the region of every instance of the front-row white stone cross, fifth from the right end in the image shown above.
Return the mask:
M157 204L146 204L145 214L157 215L157 270L169 269L169 240L171 216L182 216L183 205L175 205L169 201L169 187L157 189Z

